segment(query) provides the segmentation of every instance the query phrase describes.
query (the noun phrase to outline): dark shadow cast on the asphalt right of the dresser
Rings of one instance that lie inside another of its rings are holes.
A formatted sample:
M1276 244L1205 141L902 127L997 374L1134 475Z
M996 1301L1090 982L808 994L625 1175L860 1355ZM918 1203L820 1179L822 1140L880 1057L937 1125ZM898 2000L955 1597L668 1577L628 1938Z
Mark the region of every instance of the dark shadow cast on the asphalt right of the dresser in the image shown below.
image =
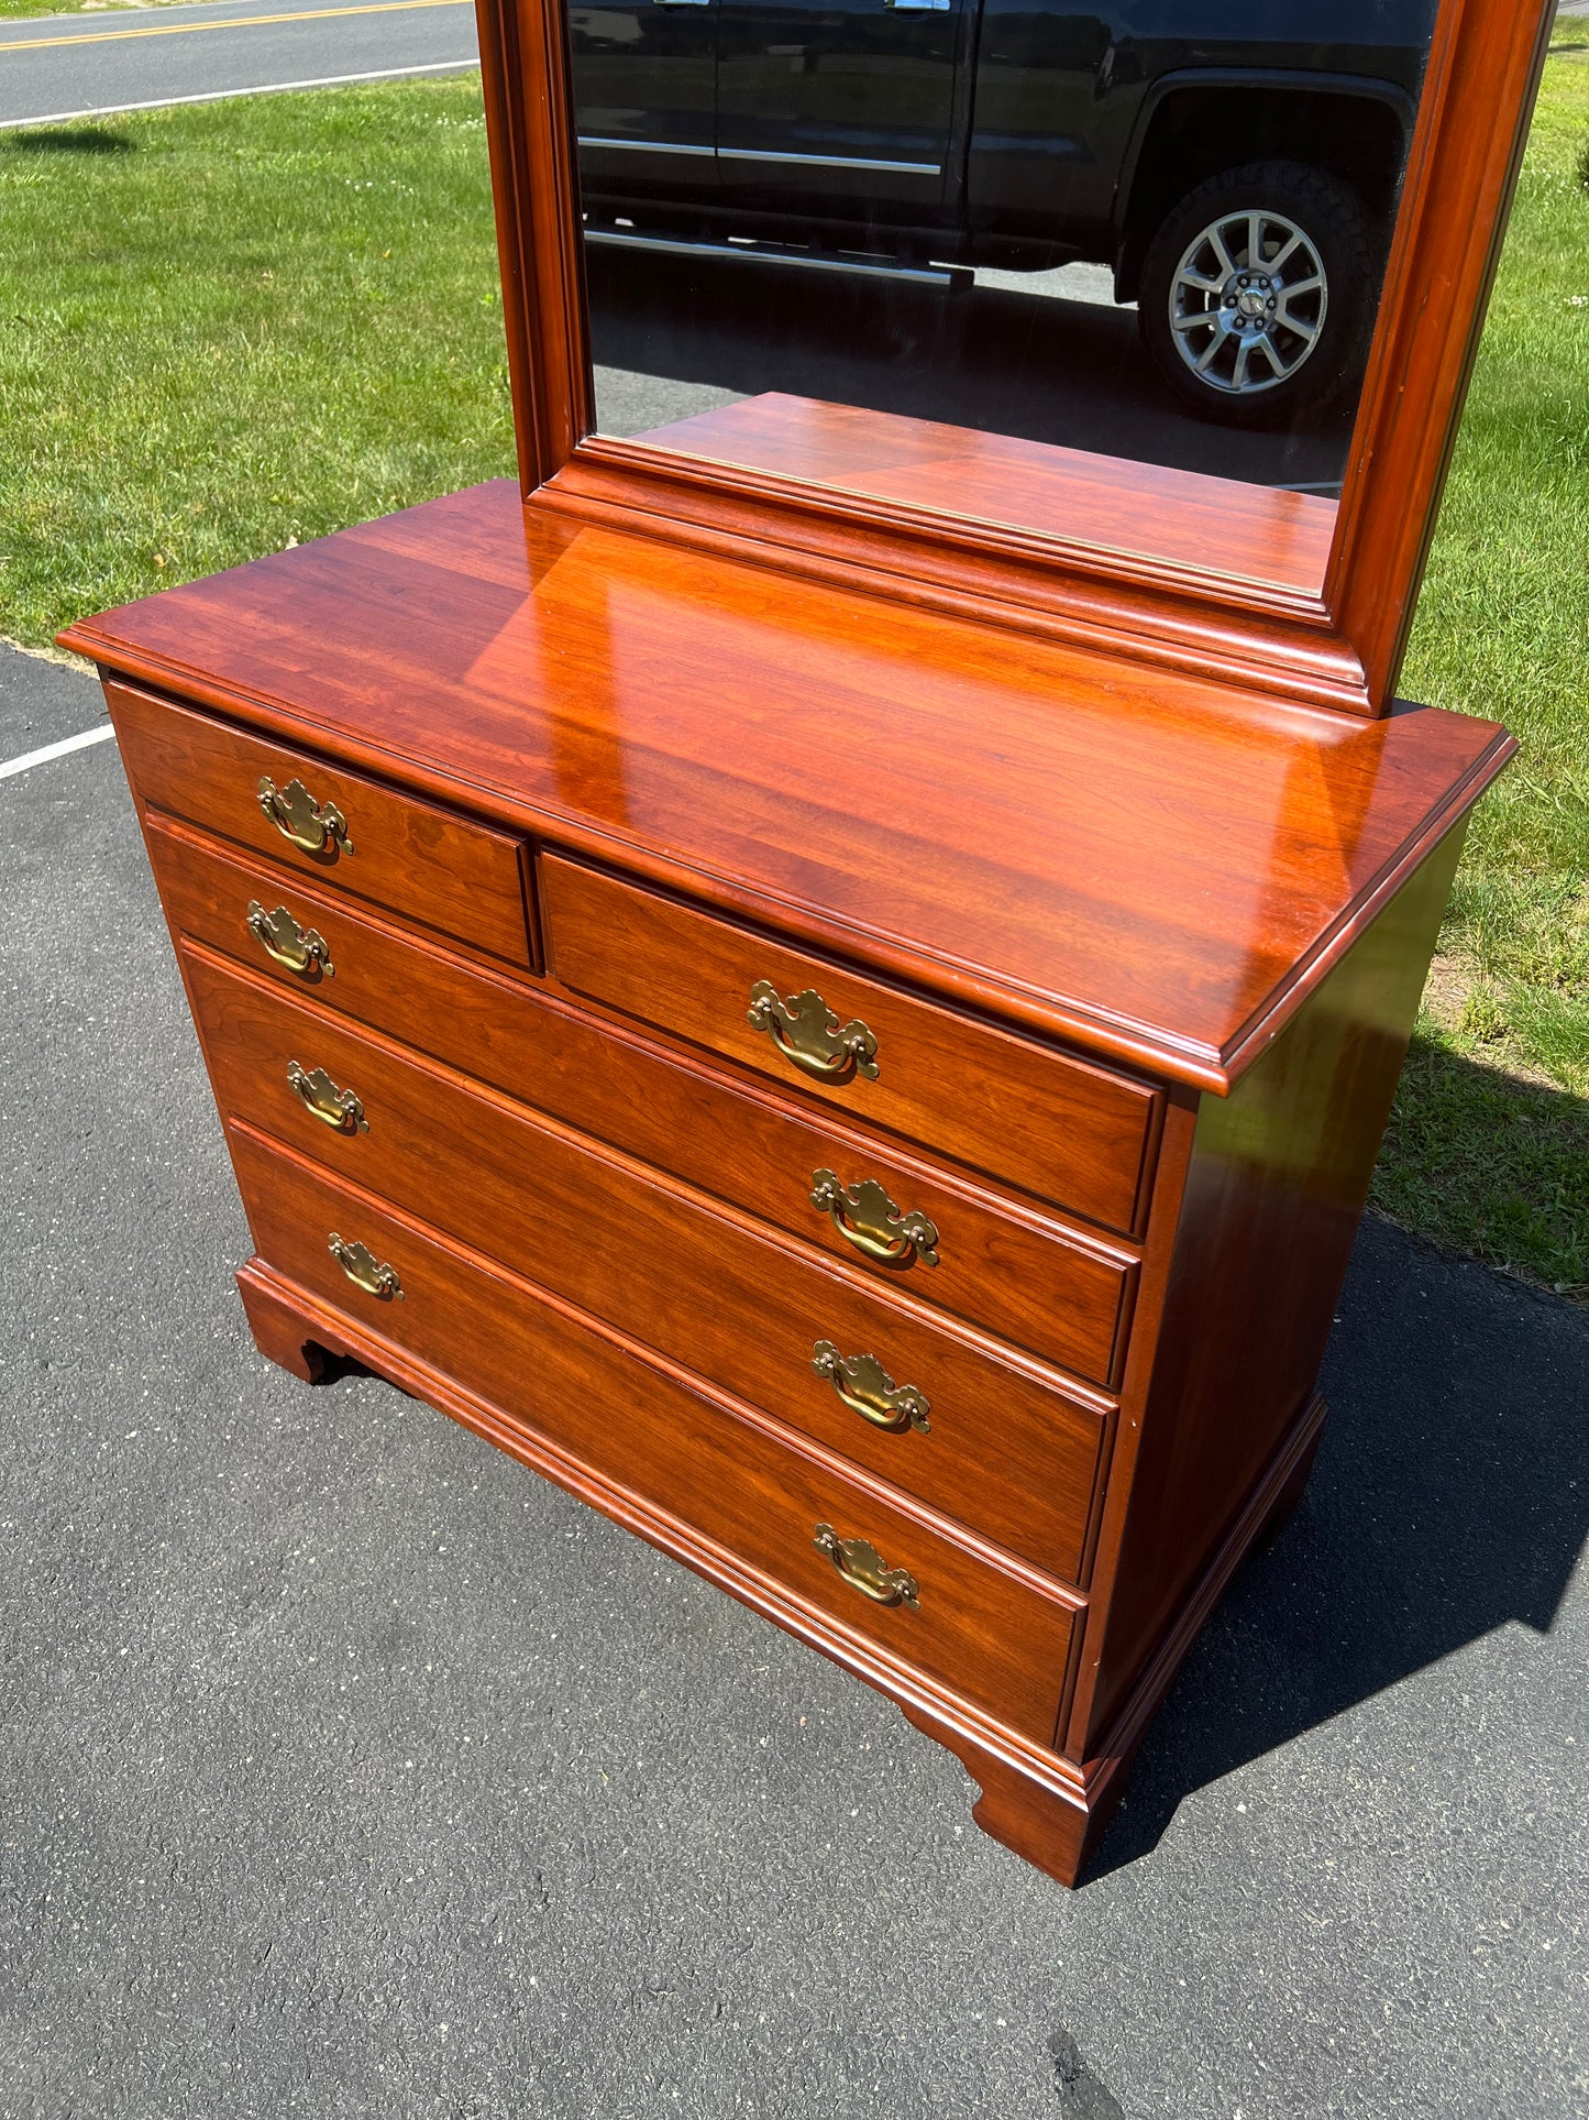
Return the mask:
M1320 1382L1307 1495L1186 1658L1083 1887L1210 1781L1555 1622L1589 1533L1589 1314L1364 1219Z

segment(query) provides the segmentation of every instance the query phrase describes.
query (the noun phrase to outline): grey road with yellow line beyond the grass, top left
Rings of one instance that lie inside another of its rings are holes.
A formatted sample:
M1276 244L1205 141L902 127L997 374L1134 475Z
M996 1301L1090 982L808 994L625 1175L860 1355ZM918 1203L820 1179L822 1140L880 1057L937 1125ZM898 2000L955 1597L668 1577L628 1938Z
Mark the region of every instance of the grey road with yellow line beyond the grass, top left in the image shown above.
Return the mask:
M0 127L479 64L472 0L203 0L0 23Z

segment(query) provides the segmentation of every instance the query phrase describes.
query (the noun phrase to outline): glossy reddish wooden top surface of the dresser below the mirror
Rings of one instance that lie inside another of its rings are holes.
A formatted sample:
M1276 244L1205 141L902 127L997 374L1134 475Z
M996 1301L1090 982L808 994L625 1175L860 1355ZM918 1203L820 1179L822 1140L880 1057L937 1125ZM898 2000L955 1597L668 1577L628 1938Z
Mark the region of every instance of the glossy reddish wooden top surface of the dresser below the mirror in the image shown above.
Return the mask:
M64 644L928 992L1225 1090L1504 765L525 513L494 481Z

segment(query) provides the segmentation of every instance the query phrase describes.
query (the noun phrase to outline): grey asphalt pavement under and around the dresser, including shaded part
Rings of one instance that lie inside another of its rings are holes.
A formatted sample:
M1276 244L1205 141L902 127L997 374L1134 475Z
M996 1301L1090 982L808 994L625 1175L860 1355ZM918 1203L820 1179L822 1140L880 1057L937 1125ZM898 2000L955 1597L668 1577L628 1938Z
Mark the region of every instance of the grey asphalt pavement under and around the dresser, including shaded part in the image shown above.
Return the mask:
M102 725L0 653L0 770ZM112 744L0 778L0 2116L1589 2112L1589 1317L1367 1223L1093 1874L371 1378L263 1361Z

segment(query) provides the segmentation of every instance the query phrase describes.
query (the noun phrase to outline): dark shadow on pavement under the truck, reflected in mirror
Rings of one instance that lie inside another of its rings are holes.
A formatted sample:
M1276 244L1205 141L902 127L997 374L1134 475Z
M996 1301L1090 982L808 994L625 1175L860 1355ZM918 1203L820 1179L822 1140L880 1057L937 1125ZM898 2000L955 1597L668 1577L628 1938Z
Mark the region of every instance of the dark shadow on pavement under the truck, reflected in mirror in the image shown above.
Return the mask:
M788 390L1258 485L1316 485L1345 469L1350 418L1288 435L1180 411L1136 312L1110 303L636 250L587 252L587 276L597 367L742 396Z

